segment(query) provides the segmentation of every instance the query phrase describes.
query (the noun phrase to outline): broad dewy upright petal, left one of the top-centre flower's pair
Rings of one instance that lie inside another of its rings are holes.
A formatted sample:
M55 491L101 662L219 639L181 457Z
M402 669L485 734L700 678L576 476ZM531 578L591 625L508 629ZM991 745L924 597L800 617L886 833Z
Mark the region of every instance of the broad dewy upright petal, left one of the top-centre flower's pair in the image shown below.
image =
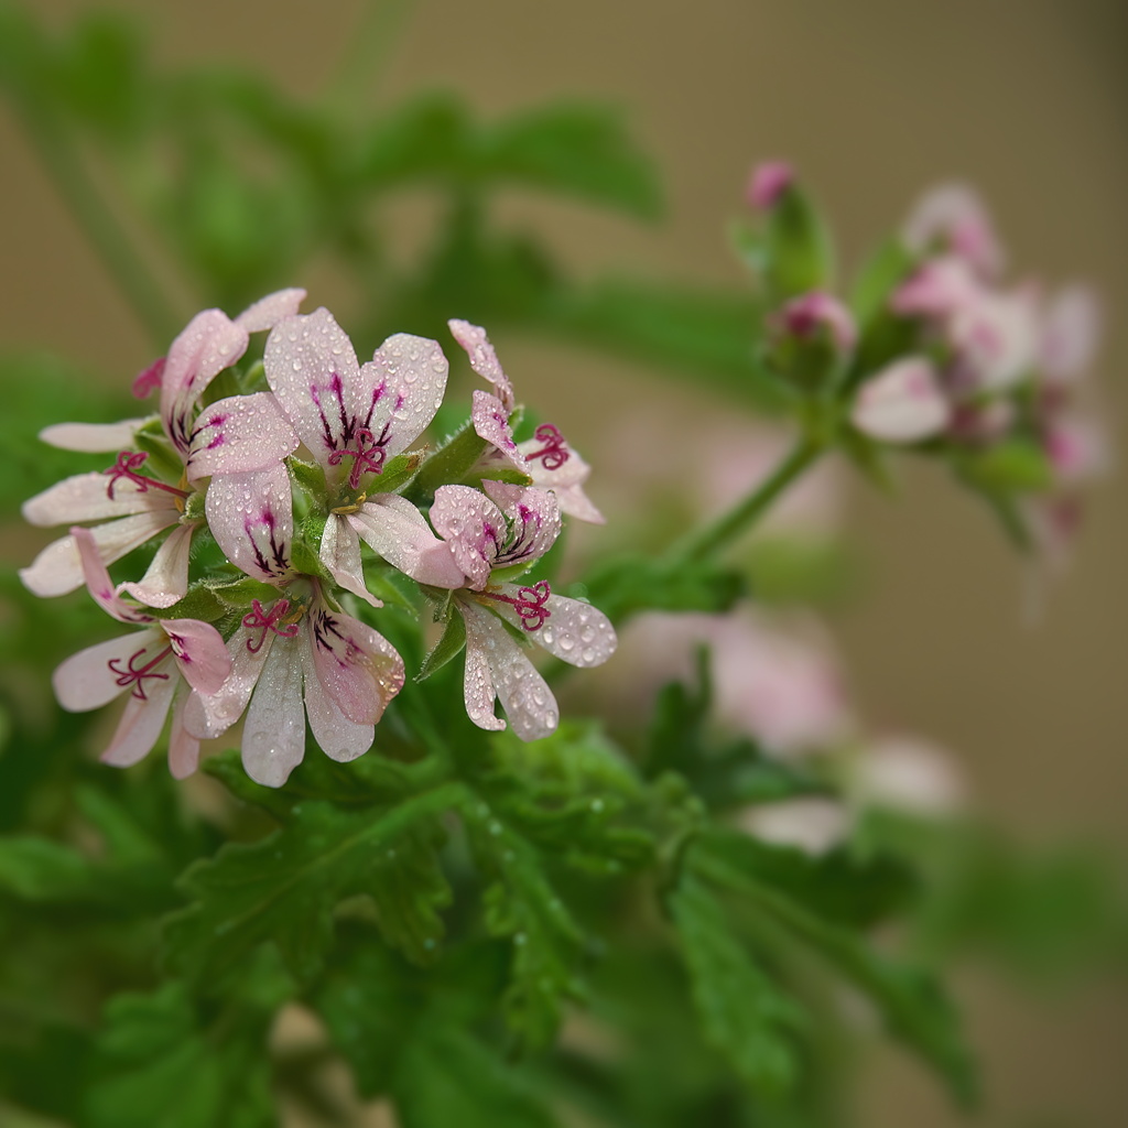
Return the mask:
M314 457L344 450L361 403L371 411L378 389L361 380L356 353L327 309L287 317L266 340L266 379L282 411Z

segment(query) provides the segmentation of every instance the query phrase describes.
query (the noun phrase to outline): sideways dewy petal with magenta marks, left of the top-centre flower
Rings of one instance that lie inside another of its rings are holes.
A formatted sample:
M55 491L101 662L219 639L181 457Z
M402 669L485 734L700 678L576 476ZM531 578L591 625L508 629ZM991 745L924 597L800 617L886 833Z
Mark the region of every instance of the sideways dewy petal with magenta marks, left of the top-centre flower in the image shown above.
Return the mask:
M268 391L205 407L192 431L188 478L270 469L298 449L298 435Z

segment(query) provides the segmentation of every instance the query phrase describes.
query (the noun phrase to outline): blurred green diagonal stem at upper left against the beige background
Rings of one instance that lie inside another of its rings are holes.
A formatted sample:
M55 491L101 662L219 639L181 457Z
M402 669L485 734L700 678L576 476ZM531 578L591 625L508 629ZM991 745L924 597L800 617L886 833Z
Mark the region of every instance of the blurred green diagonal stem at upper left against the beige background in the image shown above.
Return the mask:
M15 100L32 146L82 233L144 324L156 347L167 349L180 328L180 318L103 201L64 127L30 98Z

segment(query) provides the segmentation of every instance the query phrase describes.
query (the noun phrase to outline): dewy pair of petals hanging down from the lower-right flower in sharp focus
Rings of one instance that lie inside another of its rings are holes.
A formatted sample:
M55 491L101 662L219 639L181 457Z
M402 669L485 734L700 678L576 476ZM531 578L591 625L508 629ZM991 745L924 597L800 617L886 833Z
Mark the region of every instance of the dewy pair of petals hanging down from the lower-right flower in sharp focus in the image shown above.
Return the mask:
M556 731L559 713L548 684L505 627L485 608L459 605L466 622L466 712L479 729L497 729L493 715L496 693L513 732L521 740L539 740Z

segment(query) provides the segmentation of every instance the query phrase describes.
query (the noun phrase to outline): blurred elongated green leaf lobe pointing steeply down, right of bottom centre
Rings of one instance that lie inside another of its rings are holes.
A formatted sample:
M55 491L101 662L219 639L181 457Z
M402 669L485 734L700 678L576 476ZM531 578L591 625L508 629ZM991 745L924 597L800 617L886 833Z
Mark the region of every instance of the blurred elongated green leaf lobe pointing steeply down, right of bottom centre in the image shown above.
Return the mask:
M666 904L705 1037L754 1090L786 1091L799 1072L794 1036L802 1012L733 935L724 909L691 872Z

